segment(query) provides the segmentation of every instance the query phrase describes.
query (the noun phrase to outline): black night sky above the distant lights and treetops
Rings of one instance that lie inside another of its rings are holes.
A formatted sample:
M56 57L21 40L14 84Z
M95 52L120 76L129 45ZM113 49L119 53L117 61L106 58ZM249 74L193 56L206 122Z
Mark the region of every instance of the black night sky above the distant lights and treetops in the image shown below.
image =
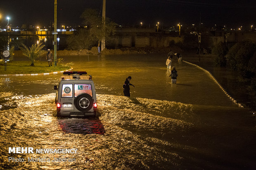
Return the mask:
M102 11L102 0L57 0L58 26L82 23L84 9ZM10 17L12 27L29 24L50 26L54 21L54 0L12 0L0 2L0 26L5 27ZM106 0L106 16L122 26L174 26L177 23L207 27L256 26L255 0ZM100 14L101 16L102 14Z

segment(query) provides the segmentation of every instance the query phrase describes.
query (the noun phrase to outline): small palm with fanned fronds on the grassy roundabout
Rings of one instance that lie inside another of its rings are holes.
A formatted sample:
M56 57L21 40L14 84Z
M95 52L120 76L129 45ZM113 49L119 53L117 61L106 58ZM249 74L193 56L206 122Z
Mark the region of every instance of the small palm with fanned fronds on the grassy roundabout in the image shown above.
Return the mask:
M21 47L19 47L19 49L21 49L24 56L27 56L30 59L30 66L35 66L34 62L36 61L36 59L38 59L40 56L43 56L46 53L46 51L43 50L43 47L45 47L45 45L42 45L42 43L33 44L29 48L26 47L25 44L21 44Z

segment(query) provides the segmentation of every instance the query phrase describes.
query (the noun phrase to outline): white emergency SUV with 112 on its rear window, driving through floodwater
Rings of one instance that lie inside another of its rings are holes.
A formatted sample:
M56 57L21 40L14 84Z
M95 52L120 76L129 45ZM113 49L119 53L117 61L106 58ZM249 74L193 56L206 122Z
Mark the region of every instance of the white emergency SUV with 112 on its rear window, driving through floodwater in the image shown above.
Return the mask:
M57 116L96 116L97 100L92 76L86 72L63 72L59 78L55 103Z

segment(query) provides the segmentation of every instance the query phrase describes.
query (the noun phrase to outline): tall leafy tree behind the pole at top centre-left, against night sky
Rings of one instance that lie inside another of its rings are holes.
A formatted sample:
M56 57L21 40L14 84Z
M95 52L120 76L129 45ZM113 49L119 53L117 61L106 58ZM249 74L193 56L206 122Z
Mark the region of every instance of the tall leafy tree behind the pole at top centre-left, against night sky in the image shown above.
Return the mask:
M96 9L85 9L81 18L84 19L83 24L90 30L92 40L100 41L105 38L108 40L111 35L115 33L116 23L112 22L109 18L105 19L105 29L103 29L102 17L99 16Z

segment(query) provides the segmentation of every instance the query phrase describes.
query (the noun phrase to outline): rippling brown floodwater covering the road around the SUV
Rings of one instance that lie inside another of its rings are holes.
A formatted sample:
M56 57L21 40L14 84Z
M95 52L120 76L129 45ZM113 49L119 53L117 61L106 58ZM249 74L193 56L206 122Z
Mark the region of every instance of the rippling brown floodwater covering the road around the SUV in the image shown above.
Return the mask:
M73 70L92 75L98 117L56 116L53 86L61 74L0 77L2 169L256 168L254 115L234 104L203 70L174 60L178 79L171 84L166 54L63 58L75 63ZM122 92L128 76L135 85L130 98ZM9 147L35 152L9 154Z

